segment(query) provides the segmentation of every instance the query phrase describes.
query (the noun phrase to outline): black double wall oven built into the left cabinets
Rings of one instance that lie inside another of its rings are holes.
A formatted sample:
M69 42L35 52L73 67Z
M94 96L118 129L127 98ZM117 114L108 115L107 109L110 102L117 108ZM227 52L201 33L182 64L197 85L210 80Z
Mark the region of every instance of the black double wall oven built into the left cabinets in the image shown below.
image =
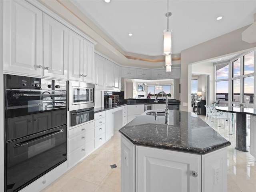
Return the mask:
M67 160L66 81L4 75L5 191Z

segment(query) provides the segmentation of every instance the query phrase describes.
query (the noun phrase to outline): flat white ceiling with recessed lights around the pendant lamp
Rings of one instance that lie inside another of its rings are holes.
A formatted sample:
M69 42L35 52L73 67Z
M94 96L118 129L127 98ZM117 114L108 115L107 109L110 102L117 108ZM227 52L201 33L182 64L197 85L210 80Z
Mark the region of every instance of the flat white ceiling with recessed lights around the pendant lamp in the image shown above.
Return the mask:
M123 52L162 55L166 0L70 0ZM169 0L172 53L254 22L256 0ZM216 20L223 16L222 20ZM128 36L132 33L132 36Z

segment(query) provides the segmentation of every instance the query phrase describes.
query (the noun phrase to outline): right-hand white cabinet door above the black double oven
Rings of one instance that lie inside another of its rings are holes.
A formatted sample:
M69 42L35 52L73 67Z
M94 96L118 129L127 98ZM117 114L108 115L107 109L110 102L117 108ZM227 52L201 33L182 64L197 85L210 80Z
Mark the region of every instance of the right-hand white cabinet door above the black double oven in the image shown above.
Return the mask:
M43 76L68 79L68 28L46 14Z

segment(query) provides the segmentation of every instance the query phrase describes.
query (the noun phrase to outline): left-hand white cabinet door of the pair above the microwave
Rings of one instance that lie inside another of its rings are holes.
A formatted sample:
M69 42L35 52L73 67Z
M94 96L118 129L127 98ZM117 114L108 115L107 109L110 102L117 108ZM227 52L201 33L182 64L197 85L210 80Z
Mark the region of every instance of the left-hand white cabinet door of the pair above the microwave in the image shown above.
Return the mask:
M83 38L69 30L69 79L83 81Z

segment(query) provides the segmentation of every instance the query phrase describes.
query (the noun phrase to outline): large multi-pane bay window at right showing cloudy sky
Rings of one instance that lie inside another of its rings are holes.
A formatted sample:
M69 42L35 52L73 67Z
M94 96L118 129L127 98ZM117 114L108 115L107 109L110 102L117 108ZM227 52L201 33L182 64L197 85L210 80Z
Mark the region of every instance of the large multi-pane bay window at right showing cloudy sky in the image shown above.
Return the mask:
M256 65L256 50L241 54L226 64L216 66L216 100L228 101L233 104L245 103L249 98L254 104L254 70ZM232 72L229 73L229 69ZM232 94L228 92L232 91Z

